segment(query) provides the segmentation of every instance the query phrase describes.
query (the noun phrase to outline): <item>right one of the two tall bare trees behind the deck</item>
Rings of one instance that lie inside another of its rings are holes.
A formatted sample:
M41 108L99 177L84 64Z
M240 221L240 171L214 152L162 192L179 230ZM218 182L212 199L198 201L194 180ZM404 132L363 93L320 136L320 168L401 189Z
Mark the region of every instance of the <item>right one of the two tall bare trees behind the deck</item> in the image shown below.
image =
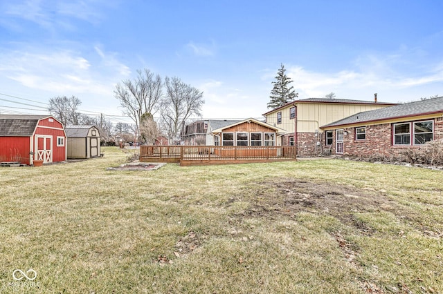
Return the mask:
M168 137L175 137L191 115L201 115L201 106L205 101L203 92L177 77L166 77L165 86L161 117Z

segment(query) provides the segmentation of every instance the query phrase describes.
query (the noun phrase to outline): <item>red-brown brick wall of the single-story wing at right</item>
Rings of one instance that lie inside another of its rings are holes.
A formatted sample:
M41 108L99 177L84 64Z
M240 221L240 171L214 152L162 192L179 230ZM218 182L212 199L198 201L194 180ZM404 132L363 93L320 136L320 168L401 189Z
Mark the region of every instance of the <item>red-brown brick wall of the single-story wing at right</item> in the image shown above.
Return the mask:
M392 146L392 124L366 126L364 140L355 139L355 128L344 128L343 156L364 159L402 159L404 150L420 146ZM335 154L335 130L332 154ZM434 140L443 139L443 118L434 119ZM324 144L324 138L323 143ZM324 146L323 148L329 148Z

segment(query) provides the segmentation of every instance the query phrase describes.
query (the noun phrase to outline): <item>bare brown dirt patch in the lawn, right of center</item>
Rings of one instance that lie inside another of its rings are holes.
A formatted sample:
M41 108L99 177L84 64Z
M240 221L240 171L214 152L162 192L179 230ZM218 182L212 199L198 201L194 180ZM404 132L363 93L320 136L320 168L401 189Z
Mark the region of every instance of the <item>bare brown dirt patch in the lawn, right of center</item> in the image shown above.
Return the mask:
M256 201L243 213L253 217L295 216L300 212L332 215L371 235L374 229L356 219L357 213L388 211L401 219L409 219L413 211L400 206L376 190L331 183L308 182L302 179L278 179L257 183Z

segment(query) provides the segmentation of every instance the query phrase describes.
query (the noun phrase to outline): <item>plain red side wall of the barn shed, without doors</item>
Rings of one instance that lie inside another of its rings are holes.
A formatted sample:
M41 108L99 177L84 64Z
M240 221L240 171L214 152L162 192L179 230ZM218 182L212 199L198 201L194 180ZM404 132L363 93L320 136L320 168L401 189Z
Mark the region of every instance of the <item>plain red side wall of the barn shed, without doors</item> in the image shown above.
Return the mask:
M0 161L29 163L29 137L0 137Z

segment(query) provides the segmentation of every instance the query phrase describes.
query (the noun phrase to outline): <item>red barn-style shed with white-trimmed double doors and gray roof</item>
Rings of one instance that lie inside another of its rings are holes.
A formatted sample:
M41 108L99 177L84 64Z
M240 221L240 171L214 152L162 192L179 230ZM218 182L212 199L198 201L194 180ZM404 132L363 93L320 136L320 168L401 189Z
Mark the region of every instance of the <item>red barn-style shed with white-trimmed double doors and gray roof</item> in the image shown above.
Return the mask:
M66 133L50 115L0 115L0 161L66 161Z

